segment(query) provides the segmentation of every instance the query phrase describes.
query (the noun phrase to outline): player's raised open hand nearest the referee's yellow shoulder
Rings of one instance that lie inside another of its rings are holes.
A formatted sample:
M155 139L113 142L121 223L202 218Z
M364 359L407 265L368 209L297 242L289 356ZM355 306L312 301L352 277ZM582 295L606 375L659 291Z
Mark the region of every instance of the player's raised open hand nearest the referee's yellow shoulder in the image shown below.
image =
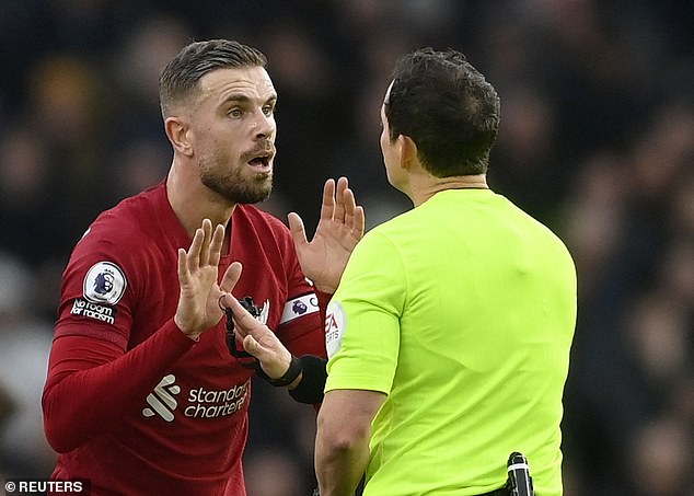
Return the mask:
M357 206L347 177L327 180L323 187L321 219L311 242L299 215L289 214L289 229L304 275L321 291L333 293L351 251L363 237L363 208Z

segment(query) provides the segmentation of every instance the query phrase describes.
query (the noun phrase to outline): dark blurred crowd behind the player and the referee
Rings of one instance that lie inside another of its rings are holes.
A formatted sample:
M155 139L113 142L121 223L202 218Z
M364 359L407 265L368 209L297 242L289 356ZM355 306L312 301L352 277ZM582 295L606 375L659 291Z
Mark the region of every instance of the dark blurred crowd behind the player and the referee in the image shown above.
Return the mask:
M39 396L61 270L100 211L166 174L159 70L193 39L229 37L268 56L279 92L263 208L309 228L331 176L349 176L369 228L409 208L378 145L391 68L416 47L464 51L501 97L490 185L563 238L578 267L565 494L694 495L693 10L0 0L0 475L53 469ZM251 415L250 496L310 494L313 410L258 383Z

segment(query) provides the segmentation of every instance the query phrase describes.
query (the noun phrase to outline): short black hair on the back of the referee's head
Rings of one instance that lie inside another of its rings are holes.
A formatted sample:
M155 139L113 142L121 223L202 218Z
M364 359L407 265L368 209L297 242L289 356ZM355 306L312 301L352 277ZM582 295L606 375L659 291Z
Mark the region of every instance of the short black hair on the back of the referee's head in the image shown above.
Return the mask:
M409 137L432 175L486 172L500 101L460 51L423 48L402 57L384 105L391 141Z

